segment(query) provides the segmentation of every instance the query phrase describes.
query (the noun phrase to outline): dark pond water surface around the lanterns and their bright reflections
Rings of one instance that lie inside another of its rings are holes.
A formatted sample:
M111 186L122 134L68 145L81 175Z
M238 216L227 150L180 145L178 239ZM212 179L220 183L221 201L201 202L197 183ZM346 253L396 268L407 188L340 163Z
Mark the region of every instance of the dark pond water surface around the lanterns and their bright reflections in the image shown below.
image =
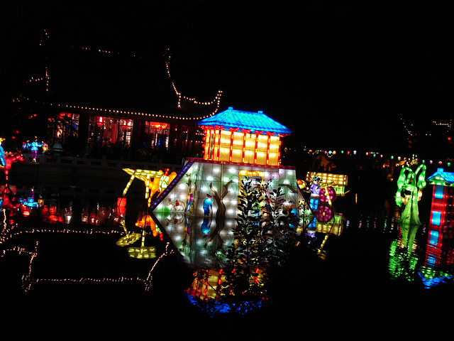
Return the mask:
M282 338L450 335L453 286L423 281L427 266L430 189L420 203L423 225L414 251L402 239L391 190L338 198L342 233L315 232L271 276L273 303L238 317L209 318L187 300L192 269L170 239L147 236L155 259L130 259L116 241L121 227L45 224L28 217L4 226L0 244L4 340L272 340ZM369 198L369 199L367 199ZM454 274L450 234L439 269ZM394 243L394 244L393 244ZM430 245L429 245L430 248ZM394 250L394 251L393 251ZM397 251L396 251L397 250Z

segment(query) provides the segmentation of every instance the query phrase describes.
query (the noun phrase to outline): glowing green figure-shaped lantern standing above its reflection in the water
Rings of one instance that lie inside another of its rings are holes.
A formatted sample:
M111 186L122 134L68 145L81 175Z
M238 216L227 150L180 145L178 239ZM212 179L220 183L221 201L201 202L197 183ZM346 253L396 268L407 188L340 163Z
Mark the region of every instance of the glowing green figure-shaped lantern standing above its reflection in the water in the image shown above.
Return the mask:
M399 224L421 224L419 220L418 202L421 200L422 190L426 187L426 165L421 165L413 172L404 167L397 179L396 204L405 208L399 219Z

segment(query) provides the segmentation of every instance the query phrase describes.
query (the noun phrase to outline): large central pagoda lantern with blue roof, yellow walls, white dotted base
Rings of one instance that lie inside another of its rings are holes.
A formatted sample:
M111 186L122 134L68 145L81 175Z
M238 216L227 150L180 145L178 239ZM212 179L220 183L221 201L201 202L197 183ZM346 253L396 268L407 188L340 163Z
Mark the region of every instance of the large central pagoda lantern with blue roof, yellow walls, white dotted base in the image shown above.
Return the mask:
M279 200L290 209L299 207L304 197L295 168L279 165L281 138L292 133L282 124L263 112L229 107L202 119L199 127L205 132L203 158L187 158L150 211L187 263L210 266L207 249L233 242L243 178L267 183L271 189L280 187Z

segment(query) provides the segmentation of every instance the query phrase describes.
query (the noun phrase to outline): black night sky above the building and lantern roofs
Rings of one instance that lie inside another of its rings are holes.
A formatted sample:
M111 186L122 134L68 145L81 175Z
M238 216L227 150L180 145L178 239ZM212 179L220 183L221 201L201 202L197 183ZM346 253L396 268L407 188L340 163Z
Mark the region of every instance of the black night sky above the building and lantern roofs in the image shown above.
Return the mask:
M181 92L209 100L221 89L221 109L262 110L301 144L380 148L399 134L401 117L451 117L451 1L11 2L2 16L4 80L18 80L18 65L46 28L91 48L141 55L170 48Z

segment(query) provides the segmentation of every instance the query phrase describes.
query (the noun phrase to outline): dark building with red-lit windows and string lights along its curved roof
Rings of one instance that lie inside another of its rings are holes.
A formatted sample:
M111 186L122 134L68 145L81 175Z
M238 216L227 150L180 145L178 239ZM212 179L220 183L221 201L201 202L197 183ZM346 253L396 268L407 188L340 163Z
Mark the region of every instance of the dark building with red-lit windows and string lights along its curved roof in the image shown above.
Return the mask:
M50 150L57 144L77 155L101 146L201 151L197 122L218 112L221 91L206 100L179 92L168 50L143 57L56 45L43 34L39 53L14 102L29 120L23 126L45 129L46 136L35 134Z

